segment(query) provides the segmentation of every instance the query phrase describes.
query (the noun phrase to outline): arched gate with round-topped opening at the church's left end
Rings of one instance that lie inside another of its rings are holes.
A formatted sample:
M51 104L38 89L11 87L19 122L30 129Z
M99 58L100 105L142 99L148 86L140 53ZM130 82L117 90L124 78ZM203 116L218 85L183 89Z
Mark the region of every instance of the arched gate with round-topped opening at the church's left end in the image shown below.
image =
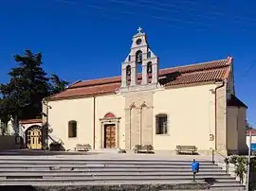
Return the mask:
M29 149L42 149L42 128L31 126L26 131L26 143Z

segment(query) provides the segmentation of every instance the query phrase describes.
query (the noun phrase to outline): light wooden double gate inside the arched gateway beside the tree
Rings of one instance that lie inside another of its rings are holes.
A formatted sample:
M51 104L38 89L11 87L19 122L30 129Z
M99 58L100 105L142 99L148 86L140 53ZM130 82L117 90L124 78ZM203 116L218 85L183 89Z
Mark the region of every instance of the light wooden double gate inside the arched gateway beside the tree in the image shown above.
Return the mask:
M41 141L41 130L34 129L34 130L28 130L27 136L28 138L28 148L31 149L41 149L42 148L42 141Z

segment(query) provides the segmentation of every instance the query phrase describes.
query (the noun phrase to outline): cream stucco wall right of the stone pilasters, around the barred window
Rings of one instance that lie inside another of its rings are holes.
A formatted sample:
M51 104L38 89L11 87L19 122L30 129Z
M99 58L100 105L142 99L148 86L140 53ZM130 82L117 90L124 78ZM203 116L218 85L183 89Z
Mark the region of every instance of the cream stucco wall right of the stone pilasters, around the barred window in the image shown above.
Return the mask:
M192 86L155 93L154 115L168 114L169 131L168 135L155 135L156 149L174 149L177 145L194 145L201 150L213 147L210 134L214 134L214 95L210 90L214 87Z

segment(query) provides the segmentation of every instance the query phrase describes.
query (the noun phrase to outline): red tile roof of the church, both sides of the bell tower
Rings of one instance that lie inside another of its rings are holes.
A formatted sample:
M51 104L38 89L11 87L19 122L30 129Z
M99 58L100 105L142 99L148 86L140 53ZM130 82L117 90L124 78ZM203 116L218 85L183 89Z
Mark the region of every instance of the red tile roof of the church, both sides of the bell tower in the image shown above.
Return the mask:
M178 77L163 84L164 86L223 80L229 77L231 62L232 58L229 57L226 60L161 69L159 70L159 78L166 78L167 75L174 74L175 72L180 73ZM141 79L141 74L138 75L138 79ZM82 80L70 85L64 92L48 97L48 99L115 94L119 90L120 82L120 77Z

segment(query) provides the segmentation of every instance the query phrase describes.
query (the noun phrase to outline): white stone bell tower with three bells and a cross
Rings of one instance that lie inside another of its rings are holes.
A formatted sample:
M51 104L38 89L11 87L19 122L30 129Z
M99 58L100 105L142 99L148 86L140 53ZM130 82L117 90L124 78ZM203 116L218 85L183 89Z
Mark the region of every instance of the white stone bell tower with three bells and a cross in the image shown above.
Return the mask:
M133 36L130 53L121 64L122 92L152 89L158 84L158 58L152 52L142 28L138 27L137 31Z

